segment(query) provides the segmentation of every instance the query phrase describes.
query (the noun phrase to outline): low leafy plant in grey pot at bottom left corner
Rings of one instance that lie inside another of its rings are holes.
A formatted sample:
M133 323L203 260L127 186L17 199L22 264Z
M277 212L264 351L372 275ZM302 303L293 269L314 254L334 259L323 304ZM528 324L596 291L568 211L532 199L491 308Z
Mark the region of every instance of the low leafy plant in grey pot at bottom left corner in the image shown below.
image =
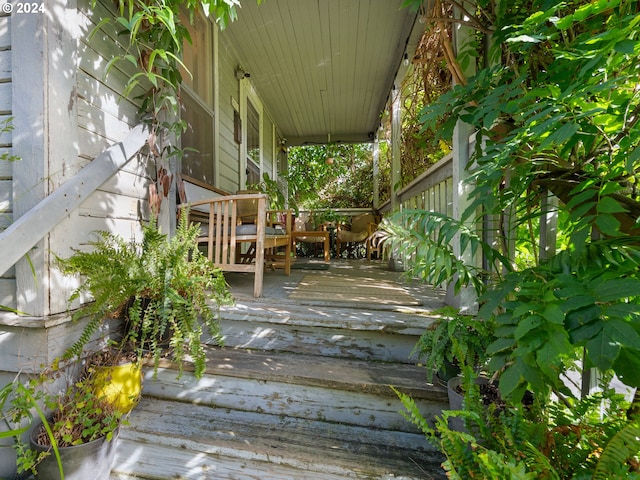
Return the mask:
M14 382L3 418L14 432L19 473L44 480L109 478L114 440L125 413L106 395L96 395L99 368L93 357L79 374L77 366L74 362L60 368L54 362L29 382ZM34 411L40 421L27 441L22 433L29 429Z

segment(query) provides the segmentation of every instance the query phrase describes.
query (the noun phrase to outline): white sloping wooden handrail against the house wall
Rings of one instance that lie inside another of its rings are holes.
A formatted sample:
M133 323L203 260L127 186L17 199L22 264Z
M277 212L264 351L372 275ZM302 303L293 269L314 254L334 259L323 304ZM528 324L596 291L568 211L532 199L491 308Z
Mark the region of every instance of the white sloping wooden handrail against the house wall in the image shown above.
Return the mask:
M145 145L148 137L146 126L134 127L122 142L102 152L0 233L0 275L15 265L69 212L75 210L129 162Z

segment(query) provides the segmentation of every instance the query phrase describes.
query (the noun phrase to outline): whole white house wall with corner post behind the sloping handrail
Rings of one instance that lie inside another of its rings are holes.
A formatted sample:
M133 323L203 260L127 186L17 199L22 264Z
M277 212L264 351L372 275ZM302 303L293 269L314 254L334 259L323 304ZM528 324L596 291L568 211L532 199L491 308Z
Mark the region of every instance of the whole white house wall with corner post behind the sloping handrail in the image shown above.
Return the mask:
M0 138L0 148L12 147L22 157L12 166L0 166L0 205L10 208L15 218L137 124L137 106L120 99L130 72L118 66L104 78L107 62L121 51L115 30L107 27L88 39L106 14L104 5L112 2L105 0L95 12L89 0L78 0L77 5L69 0L65 7L56 0L44 4L50 15L0 18L0 118L11 114L16 126L12 135ZM127 239L139 234L139 217L148 216L148 181L144 159L129 162L69 212L29 253L29 262L16 264L15 279L12 272L0 279L0 304L28 314L0 312L0 386L14 372L37 371L78 338L82 324L69 321L67 306L75 284L52 266L53 254L82 248L95 230ZM12 189L17 192L13 200ZM8 476L0 466L0 477Z

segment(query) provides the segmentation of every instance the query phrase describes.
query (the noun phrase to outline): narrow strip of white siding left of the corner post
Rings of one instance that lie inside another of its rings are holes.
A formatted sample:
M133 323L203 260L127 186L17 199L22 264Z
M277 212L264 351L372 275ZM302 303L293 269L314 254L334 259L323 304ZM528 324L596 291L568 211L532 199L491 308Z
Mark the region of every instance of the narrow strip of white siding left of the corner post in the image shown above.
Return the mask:
M0 122L11 117L11 17L0 14ZM0 134L0 155L11 154L11 133ZM12 165L0 162L0 230L13 216ZM15 270L0 276L0 305L16 307Z

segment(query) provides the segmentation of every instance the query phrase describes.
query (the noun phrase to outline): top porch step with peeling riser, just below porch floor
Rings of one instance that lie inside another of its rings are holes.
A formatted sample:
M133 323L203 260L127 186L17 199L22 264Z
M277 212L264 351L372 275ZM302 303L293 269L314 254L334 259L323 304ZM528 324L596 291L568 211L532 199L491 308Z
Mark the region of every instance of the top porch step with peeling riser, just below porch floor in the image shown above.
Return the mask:
M413 307L363 309L279 300L238 303L220 311L228 347L385 362L411 362L419 336L433 322Z

